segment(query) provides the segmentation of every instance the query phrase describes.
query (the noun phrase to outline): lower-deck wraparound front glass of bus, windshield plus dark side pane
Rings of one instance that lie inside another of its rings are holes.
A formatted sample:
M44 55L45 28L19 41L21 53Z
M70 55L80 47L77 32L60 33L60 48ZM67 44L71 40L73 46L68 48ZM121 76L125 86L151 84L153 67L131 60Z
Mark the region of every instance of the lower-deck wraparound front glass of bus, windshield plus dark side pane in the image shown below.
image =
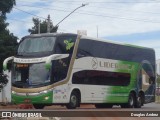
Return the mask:
M50 69L46 69L45 62L14 63L12 85L18 88L36 88L59 82L66 78L69 63L70 57L53 60Z

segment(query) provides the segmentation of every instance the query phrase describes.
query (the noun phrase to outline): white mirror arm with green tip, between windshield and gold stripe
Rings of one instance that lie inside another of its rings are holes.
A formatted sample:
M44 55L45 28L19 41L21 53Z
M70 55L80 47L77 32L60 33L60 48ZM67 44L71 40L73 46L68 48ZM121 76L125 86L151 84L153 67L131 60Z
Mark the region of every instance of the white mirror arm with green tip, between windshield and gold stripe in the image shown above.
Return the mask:
M51 68L51 61L52 60L63 59L63 58L67 58L68 56L69 56L69 54L54 54L54 55L49 56L47 58L46 64L45 64L46 69Z

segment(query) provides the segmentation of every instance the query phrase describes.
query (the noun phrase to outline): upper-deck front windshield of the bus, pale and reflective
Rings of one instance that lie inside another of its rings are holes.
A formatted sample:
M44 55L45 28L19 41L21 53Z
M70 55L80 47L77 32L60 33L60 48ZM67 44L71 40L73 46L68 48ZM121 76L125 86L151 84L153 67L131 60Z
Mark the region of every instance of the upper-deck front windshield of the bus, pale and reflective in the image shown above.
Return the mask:
M25 38L19 45L18 53L30 54L40 52L51 52L55 44L56 37L30 37Z

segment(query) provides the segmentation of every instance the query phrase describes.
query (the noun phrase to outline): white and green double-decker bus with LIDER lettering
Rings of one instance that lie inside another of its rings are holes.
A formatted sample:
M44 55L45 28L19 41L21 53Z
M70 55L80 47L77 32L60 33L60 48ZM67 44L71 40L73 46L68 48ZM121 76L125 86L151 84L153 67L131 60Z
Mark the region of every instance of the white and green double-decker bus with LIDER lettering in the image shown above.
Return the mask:
M140 108L155 101L155 52L69 33L24 37L6 58L15 104Z

